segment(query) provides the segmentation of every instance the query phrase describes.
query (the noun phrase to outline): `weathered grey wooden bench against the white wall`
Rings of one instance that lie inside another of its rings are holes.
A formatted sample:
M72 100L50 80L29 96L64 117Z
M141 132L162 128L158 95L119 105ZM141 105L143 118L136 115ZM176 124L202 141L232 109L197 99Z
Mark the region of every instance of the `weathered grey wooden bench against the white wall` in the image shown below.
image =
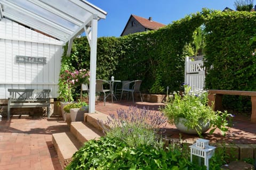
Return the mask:
M11 108L47 107L47 117L50 117L51 90L8 89L8 91L10 97L8 98L7 120L10 120Z

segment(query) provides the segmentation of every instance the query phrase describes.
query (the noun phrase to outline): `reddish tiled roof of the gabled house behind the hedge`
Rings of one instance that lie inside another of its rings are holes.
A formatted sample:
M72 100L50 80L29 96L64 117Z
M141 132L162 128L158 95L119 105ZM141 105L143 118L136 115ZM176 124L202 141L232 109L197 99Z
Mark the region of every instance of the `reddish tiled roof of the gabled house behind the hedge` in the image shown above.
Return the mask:
M126 27L127 27L127 24L129 23L129 21L131 20L131 18L134 18L135 20L137 20L143 27L147 28L147 29L150 29L150 30L158 30L159 28L165 26L165 24L162 24L162 23L159 23L159 22L156 22L156 21L153 21L151 17L149 17L149 19L146 19L146 18L142 18L140 16L137 16L137 15L133 15L131 14L129 20L127 21L125 27L124 27L124 30L123 32L121 33L121 36L123 35Z

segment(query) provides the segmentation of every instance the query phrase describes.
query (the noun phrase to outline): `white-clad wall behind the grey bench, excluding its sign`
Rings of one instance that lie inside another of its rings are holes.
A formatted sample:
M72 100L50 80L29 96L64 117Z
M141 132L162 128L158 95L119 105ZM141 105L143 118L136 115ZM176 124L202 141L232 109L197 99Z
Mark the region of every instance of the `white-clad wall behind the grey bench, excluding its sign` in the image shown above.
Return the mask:
M63 42L3 18L0 21L0 99L9 88L51 89L58 97ZM46 64L17 63L16 55L46 57Z

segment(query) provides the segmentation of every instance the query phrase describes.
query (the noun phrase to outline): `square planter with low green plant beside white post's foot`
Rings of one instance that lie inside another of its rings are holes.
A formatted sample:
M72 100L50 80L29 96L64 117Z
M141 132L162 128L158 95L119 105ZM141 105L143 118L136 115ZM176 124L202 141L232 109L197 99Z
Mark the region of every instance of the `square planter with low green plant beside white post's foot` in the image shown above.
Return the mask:
M84 101L70 103L64 107L67 123L84 120L84 113L88 113L88 105Z

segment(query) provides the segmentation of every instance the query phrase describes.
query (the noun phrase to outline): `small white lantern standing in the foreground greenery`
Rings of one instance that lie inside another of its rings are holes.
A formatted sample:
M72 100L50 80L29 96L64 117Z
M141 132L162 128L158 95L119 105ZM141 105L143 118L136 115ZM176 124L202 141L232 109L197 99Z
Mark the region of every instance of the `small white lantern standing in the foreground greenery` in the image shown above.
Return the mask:
M196 143L189 146L190 147L190 161L192 162L192 156L199 157L199 164L201 164L201 158L204 158L204 165L209 170L209 159L214 154L214 149L216 147L209 146L209 140L197 139Z

